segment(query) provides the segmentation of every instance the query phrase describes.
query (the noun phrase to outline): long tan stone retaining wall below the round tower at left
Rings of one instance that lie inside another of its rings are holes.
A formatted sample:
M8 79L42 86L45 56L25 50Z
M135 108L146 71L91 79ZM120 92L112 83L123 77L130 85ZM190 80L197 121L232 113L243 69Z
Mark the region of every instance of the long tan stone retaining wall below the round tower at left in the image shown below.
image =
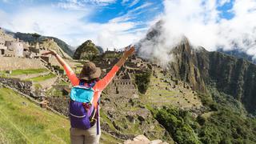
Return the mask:
M1 57L0 61L0 71L43 68L44 66L42 66L40 59Z

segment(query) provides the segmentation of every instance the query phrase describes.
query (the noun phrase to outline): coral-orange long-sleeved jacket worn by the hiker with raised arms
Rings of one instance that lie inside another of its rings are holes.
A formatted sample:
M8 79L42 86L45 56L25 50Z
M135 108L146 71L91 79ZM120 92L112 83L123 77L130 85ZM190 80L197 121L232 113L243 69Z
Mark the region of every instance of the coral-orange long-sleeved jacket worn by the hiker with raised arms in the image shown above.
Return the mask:
M80 83L80 80L74 74L74 71L68 66L67 64L64 65L64 70L66 71L67 77L70 79L70 82L73 86L78 86ZM113 68L110 70L108 74L98 82L96 82L95 86L93 87L94 89L94 106L98 106L98 98L100 98L102 94L102 90L106 88L106 86L111 82L111 80L114 78L116 73L118 72L119 67L118 66L113 66Z

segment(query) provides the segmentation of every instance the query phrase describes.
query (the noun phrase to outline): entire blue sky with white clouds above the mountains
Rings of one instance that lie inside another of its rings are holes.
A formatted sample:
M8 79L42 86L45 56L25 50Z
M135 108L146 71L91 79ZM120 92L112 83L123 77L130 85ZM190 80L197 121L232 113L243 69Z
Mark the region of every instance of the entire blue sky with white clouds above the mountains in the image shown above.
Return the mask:
M91 39L111 49L138 42L163 19L169 24L166 31L214 49L228 43L218 39L223 27L236 32L226 34L229 41L244 32L242 21L253 29L254 10L255 0L0 0L0 26L58 37L71 46ZM206 35L211 41L202 41Z

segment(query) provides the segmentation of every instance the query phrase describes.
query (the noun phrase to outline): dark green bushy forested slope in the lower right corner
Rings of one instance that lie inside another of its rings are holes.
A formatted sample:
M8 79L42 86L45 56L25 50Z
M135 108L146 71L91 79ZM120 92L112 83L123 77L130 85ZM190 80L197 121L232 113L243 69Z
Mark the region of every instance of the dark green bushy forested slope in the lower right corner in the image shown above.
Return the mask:
M152 110L154 118L178 143L256 143L256 119L246 117L241 106L235 107L240 102L208 89L210 94L200 94L206 110L197 118L173 106Z

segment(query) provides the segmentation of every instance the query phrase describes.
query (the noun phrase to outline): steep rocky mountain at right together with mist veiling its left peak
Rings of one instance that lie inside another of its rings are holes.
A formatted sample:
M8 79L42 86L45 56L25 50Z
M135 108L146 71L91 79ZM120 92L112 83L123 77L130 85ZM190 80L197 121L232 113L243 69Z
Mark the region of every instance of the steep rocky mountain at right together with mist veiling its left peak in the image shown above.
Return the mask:
M157 22L146 38L138 42L140 57L162 64L174 77L189 82L194 90L207 93L208 87L214 86L256 114L253 56L235 50L210 52L202 46L193 46L185 36L167 38L164 26L164 21Z

